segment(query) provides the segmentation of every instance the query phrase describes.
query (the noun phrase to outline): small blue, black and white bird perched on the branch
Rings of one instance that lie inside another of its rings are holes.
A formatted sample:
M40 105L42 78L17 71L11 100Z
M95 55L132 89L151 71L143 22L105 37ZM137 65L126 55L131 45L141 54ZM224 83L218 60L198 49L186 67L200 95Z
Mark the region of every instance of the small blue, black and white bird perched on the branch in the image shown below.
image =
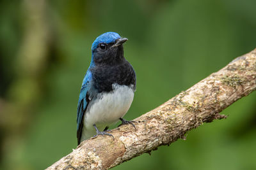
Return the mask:
M127 40L116 32L105 32L92 43L92 60L77 104L77 145L98 135L113 137L108 128L118 120L120 125L134 126L134 121L123 118L136 90L136 73L124 57Z

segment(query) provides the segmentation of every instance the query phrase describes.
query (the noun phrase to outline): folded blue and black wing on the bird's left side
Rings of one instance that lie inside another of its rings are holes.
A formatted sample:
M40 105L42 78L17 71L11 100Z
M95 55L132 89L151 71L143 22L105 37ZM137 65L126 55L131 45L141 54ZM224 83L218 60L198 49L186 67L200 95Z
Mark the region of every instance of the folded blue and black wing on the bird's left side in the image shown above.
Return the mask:
M83 128L83 117L84 112L86 111L86 108L88 106L88 103L90 102L89 99L89 91L91 89L92 85L92 73L90 69L87 70L84 80L81 87L81 92L79 94L79 100L77 104L77 144L80 144L81 135L82 135L82 128Z

